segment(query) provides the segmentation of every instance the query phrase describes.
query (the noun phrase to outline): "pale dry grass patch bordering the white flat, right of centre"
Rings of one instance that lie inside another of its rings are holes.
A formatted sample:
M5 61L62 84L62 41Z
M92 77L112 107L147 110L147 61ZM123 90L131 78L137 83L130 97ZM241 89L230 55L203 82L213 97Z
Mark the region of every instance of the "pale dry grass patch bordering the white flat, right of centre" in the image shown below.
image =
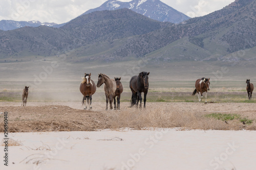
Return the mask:
M143 130L178 127L180 130L242 130L246 127L239 120L231 120L227 124L223 120L205 117L202 114L177 112L160 107L156 109L130 108L126 111L109 114L108 119L111 129L130 127Z

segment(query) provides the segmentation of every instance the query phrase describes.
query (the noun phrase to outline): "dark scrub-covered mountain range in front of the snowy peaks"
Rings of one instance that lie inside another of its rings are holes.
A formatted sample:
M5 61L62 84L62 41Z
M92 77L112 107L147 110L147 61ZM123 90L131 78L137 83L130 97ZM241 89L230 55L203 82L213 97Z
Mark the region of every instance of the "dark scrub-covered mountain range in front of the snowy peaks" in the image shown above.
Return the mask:
M0 32L0 62L63 53L69 62L139 58L152 62L254 62L255 11L256 1L236 0L222 10L180 24L156 21L129 9L95 11L60 28Z

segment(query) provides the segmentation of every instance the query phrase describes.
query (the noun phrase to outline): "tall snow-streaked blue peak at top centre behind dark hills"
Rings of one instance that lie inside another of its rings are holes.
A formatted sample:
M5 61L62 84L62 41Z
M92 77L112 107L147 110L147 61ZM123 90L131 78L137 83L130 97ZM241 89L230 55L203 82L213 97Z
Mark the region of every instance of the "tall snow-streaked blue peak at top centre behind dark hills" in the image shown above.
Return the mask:
M190 18L159 0L133 0L131 2L109 0L100 7L88 10L82 15L95 11L117 10L122 8L130 9L134 12L162 22L180 23Z

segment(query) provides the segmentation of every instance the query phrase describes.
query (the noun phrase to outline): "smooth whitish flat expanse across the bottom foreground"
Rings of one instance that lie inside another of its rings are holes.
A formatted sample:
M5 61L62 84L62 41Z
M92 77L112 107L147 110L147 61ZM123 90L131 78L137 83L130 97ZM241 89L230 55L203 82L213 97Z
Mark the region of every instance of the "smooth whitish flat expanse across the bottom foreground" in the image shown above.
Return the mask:
M165 129L12 133L9 137L23 145L9 147L9 166L5 169L251 170L256 167L256 131ZM2 155L3 150L1 147ZM38 165L33 164L36 161Z

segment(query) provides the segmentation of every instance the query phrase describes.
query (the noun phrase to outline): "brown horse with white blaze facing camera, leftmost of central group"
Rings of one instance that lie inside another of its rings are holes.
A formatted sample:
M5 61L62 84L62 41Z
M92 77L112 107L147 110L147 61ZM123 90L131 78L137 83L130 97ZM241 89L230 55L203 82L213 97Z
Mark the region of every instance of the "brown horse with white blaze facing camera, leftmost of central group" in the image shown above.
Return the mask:
M80 92L83 95L82 98L82 105L84 104L84 100L87 101L87 105L89 107L89 110L92 109L92 95L95 93L96 91L96 85L93 82L93 80L91 80L91 73L90 74L86 74L84 73L84 77L82 78L82 82L80 84ZM90 100L90 102L89 102ZM84 108L84 110L87 109L87 106Z

